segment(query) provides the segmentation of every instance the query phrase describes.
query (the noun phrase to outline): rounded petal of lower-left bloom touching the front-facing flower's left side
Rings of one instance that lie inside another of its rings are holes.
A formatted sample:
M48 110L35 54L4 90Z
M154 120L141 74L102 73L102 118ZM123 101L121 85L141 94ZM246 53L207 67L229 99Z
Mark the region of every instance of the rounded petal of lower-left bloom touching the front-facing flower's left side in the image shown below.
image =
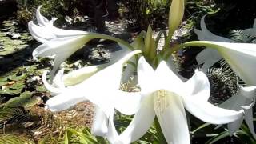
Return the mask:
M141 93L140 92L125 92L118 90L117 100L115 101L115 108L122 114L135 114L140 106Z

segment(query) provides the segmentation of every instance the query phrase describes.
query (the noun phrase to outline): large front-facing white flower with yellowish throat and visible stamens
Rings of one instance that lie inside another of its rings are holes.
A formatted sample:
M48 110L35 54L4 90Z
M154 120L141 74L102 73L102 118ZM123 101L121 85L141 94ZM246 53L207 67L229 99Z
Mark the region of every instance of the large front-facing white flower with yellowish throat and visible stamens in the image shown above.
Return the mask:
M116 143L130 143L141 138L150 128L155 115L168 143L190 143L185 109L204 122L223 124L234 122L243 115L243 110L226 110L207 102L210 84L205 74L196 70L187 82L160 62L153 68L145 58L138 61L138 84L142 101L130 125L120 134Z

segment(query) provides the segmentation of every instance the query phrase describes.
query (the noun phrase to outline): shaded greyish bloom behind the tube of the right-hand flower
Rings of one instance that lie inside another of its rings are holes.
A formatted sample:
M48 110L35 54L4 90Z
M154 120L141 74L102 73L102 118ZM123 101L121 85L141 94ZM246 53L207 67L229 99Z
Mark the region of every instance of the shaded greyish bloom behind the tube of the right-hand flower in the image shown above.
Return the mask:
M210 32L206 28L205 17L203 16L200 22L201 30L194 29L194 33L198 35L200 41L214 41L214 42L234 42L229 38L220 37ZM202 70L206 72L210 66L222 59L222 56L218 53L218 50L206 48L202 50L197 56L196 60L199 65L202 65Z

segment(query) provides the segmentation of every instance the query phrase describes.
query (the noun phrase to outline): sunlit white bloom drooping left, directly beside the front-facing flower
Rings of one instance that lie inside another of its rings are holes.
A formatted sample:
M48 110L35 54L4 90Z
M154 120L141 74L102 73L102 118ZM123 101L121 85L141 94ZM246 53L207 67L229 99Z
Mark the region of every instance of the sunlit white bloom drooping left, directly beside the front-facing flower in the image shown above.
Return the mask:
M42 78L43 82L46 88L56 95L46 102L46 109L51 111L65 110L78 102L89 100L95 105L92 133L106 136L110 142L113 142L117 135L113 122L114 109L122 112L122 114L134 114L138 110L140 94L124 92L119 90L119 86L123 64L132 58L134 54L140 52L140 50L130 52L118 62L99 70L95 74L91 75L94 70L88 70L89 75L86 76L84 74L82 76L84 81L74 86L65 87L65 82L70 85L75 83L70 83L69 80L62 81L62 73L58 73L54 78L54 84L57 87L51 86L46 81L45 72ZM87 70L84 71L88 72ZM71 75L70 78L74 79L72 77Z

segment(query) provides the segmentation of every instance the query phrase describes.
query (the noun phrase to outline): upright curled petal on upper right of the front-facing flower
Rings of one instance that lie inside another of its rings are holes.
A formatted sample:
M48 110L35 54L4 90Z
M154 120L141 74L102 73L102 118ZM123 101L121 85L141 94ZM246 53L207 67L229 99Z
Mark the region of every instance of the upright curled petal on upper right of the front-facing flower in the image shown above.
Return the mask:
M207 102L210 97L210 82L202 71L195 70L192 78L185 82L183 87L186 87L186 90L177 93L202 102Z

